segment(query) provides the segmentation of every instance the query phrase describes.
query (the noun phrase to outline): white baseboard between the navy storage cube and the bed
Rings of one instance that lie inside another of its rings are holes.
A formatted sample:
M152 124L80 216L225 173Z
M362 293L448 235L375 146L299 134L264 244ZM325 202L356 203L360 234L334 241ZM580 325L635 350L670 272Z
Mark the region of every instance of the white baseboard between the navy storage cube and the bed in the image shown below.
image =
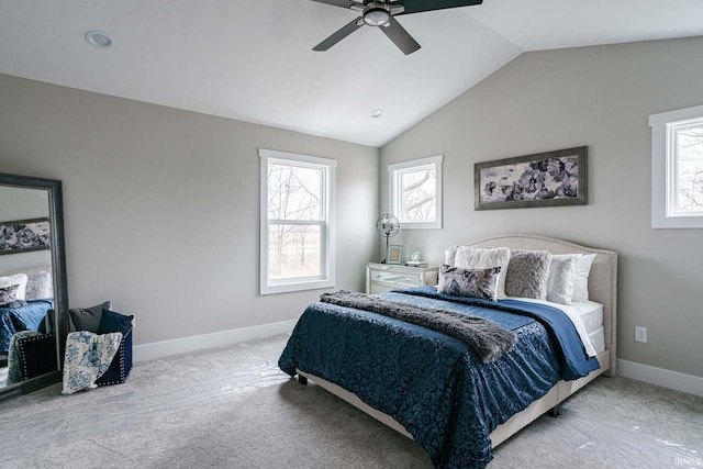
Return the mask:
M253 340L256 338L287 334L293 330L297 322L297 320L282 321L280 323L261 324L258 326L242 327L212 334L175 338L172 340L135 345L133 348L133 357L134 361L150 360L152 358L166 357L168 355L183 354L188 351L201 350L203 348L235 344L237 342Z

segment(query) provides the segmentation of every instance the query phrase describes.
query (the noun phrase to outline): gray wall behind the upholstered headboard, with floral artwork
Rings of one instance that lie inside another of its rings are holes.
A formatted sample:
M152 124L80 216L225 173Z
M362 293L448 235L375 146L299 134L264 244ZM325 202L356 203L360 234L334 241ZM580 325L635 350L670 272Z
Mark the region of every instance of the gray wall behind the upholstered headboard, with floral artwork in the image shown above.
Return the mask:
M703 231L650 228L649 114L703 104L703 37L527 53L381 150L386 166L444 154L444 230L395 242L435 263L502 233L620 254L618 358L703 377ZM473 164L589 146L585 206L473 211ZM634 342L635 325L648 343Z

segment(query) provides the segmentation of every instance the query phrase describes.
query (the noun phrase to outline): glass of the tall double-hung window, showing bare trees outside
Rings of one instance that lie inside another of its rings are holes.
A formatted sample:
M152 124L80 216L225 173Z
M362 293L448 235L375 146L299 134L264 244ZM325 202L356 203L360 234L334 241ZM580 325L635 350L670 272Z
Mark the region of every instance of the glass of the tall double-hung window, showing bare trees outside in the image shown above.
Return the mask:
M323 170L268 165L269 278L321 275Z

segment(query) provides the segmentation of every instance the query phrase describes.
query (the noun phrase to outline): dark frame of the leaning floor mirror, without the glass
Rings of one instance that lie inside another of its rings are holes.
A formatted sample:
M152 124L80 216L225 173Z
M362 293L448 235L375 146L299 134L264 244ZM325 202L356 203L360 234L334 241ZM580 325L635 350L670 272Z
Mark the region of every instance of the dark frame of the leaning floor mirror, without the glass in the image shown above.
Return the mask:
M54 311L56 312L56 370L15 384L0 388L0 402L26 394L40 388L62 381L62 367L66 334L68 333L68 278L66 275L66 247L64 244L64 204L62 181L57 179L0 172L0 186L23 189L43 189L48 192L48 212L52 222L51 252L54 281Z

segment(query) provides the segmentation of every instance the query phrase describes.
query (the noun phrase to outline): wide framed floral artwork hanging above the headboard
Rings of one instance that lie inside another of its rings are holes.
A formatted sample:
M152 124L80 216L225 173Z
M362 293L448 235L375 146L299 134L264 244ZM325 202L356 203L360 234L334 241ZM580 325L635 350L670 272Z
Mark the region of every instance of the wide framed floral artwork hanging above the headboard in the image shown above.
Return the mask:
M588 147L473 165L473 209L588 204Z

